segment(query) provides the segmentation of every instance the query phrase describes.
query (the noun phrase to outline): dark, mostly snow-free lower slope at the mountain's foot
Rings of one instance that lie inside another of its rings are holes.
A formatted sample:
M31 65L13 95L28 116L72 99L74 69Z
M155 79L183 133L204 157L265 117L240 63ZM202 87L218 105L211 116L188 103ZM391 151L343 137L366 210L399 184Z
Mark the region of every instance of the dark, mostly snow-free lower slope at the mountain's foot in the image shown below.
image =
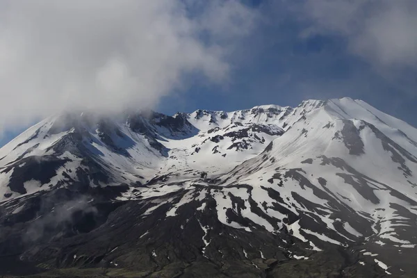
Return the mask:
M163 199L178 200L183 194ZM325 277L383 276L377 268L352 266L360 256L354 247L328 245L328 253L313 254L286 229L270 234L253 222L252 232L225 226L213 212L215 203L211 199L205 200L203 211L197 210L201 203L190 202L179 208L179 217L167 218L170 204L145 214L149 202L163 199L114 203L106 201L106 194L94 190L83 196L88 197L80 202L76 192L44 193L26 201L27 207L13 217L1 218L6 230L0 252L9 258L8 265L0 268L2 274L13 273L23 259L28 265L26 270L34 277L101 277L112 273L134 273L135 277L315 277L317 273ZM88 202L90 198L94 201ZM50 211L53 207L63 211L74 203L79 204L79 209L65 217ZM28 221L38 215L42 215L42 222ZM250 222L239 215L231 219ZM206 235L210 244L202 254L204 226L211 227ZM55 234L58 230L60 233ZM308 261L294 261L291 252L311 257ZM20 259L13 259L19 253Z

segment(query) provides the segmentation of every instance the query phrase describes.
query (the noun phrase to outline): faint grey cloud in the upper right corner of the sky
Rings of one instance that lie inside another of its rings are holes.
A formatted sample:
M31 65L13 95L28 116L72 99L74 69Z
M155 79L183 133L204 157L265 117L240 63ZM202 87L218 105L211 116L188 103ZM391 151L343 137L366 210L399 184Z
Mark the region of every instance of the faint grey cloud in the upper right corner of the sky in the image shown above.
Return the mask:
M306 0L302 36L341 35L352 54L376 67L417 67L417 2L414 0Z

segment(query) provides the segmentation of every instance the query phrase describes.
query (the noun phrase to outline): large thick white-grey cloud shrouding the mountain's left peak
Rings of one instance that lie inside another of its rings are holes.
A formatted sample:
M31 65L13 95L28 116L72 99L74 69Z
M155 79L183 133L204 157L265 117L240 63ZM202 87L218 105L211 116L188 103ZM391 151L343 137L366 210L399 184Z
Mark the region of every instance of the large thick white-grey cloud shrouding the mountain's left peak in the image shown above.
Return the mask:
M255 19L235 0L3 1L0 130L63 110L154 106L187 74L227 82Z

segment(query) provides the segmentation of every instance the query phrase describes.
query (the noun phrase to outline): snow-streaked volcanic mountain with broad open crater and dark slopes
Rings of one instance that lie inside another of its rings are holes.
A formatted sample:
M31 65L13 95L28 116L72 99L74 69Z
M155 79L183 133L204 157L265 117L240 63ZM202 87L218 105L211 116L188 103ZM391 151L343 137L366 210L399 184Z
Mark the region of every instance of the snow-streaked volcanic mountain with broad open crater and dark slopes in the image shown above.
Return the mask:
M0 275L416 277L416 175L349 98L64 113L0 149Z

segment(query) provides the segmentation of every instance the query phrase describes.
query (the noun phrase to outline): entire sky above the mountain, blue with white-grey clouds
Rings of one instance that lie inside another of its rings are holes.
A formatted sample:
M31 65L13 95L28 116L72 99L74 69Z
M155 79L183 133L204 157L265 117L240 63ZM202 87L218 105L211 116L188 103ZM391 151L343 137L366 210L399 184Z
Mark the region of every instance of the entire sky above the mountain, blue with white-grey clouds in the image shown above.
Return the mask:
M5 0L0 146L62 111L352 97L417 126L415 0Z

